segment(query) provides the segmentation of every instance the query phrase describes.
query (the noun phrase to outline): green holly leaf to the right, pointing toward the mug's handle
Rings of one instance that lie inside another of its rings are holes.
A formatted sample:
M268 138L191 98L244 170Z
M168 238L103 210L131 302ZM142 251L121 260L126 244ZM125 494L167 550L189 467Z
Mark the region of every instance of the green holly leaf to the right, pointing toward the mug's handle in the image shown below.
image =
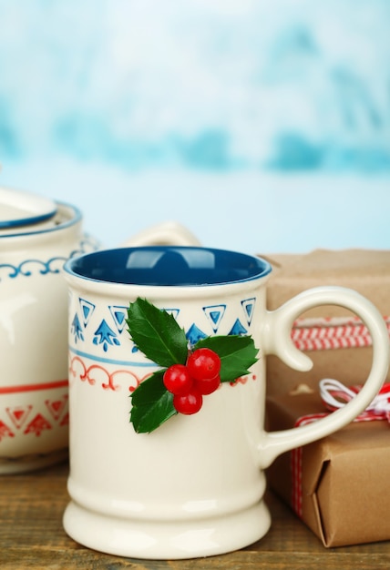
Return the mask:
M231 335L206 337L198 341L193 350L207 347L221 358L221 382L235 382L249 374L251 365L259 359L251 337Z

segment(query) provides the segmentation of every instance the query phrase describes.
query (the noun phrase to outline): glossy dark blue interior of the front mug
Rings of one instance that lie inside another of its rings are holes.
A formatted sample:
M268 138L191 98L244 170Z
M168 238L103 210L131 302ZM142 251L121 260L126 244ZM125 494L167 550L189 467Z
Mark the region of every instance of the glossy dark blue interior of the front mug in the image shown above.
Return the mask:
M135 285L218 285L259 279L271 265L236 251L178 246L103 249L68 260L68 273Z

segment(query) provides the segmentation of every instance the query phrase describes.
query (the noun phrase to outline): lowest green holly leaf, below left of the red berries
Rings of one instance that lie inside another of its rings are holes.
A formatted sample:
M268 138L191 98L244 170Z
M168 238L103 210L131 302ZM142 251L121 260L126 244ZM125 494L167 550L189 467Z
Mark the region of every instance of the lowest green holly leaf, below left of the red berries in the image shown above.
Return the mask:
M154 372L130 395L130 422L137 433L153 432L161 423L178 413L173 407L173 394L168 392L162 382L164 372L165 370Z

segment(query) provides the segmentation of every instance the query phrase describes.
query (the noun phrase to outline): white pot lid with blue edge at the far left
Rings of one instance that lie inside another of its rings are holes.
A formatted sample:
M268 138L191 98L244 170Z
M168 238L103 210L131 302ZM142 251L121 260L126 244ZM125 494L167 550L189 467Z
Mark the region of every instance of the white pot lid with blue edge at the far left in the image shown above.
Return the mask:
M36 224L56 214L56 202L31 192L0 188L0 229Z

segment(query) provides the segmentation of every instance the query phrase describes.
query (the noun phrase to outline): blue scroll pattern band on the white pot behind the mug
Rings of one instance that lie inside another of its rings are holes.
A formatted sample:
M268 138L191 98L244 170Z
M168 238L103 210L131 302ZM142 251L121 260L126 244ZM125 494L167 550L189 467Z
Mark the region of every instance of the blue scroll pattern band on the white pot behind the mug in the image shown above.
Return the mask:
M73 249L68 256L55 256L48 260L27 259L17 265L0 263L0 282L5 279L17 277L32 277L34 275L49 275L59 273L64 263L71 258L97 249L95 239L85 237L79 242L77 249Z

